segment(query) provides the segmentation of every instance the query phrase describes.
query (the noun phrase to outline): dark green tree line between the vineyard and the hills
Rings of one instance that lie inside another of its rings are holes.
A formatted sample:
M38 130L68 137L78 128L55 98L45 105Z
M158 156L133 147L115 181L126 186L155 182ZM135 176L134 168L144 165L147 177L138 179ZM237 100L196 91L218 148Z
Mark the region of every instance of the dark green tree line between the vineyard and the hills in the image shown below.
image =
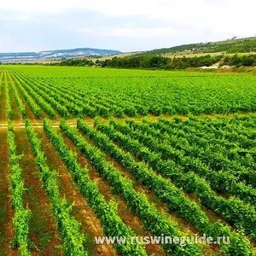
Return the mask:
M131 55L123 58L114 57L109 60L88 60L88 59L64 59L53 62L49 66L74 66L74 67L116 67L116 68L138 68L138 69L186 69L196 67L211 67L218 63L218 67L256 67L256 55L203 55L193 57L168 58L160 55ZM12 65L17 63L12 63ZM21 64L21 63L20 63ZM38 63L23 63L34 64ZM1 65L1 62L0 62Z

